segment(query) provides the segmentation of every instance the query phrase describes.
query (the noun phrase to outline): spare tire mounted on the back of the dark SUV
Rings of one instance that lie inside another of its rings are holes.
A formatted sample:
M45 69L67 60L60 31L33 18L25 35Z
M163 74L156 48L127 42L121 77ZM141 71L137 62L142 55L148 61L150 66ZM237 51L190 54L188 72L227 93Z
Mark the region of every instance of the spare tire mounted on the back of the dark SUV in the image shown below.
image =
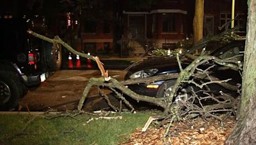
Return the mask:
M52 43L42 41L41 65L43 71L58 71L61 67L61 45L52 47Z

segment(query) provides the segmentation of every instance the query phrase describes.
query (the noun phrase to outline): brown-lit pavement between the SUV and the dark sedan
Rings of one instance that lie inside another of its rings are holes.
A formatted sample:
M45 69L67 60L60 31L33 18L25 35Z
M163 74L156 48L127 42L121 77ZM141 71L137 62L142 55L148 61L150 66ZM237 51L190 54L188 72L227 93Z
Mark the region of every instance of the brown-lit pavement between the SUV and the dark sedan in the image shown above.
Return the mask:
M110 70L109 76L123 80L125 71ZM97 70L63 70L55 72L47 81L35 90L30 90L21 100L20 109L24 111L66 111L76 109L83 90L92 77L100 77ZM108 90L105 90L108 93ZM99 97L97 87L90 90L84 110L92 111L108 107L106 101Z

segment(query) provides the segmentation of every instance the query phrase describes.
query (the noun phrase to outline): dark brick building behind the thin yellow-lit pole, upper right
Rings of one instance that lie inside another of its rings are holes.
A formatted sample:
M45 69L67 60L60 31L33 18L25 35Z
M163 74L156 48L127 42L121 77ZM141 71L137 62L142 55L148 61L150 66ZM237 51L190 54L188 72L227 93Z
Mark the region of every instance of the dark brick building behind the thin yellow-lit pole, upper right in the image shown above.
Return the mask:
M230 28L232 0L205 0L204 3L204 36L218 34ZM235 24L246 31L247 1L235 1Z

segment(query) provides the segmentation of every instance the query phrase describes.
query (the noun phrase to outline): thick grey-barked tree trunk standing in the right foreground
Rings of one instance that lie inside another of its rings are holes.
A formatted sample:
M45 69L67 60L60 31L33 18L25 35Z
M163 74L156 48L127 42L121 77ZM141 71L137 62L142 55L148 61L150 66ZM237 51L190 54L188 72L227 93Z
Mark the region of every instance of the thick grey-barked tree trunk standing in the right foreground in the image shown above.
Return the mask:
M241 104L237 123L226 144L256 144L256 1L248 0Z

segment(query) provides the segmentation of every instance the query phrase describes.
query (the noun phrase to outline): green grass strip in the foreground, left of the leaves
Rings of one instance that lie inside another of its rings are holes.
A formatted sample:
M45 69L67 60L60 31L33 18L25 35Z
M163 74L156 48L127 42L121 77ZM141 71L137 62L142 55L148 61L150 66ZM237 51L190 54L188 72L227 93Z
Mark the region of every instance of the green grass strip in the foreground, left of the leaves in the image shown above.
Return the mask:
M0 115L0 144L118 144L145 125L150 114L122 113L116 120L93 120L89 114L74 117L52 115ZM51 119L50 119L51 118Z

